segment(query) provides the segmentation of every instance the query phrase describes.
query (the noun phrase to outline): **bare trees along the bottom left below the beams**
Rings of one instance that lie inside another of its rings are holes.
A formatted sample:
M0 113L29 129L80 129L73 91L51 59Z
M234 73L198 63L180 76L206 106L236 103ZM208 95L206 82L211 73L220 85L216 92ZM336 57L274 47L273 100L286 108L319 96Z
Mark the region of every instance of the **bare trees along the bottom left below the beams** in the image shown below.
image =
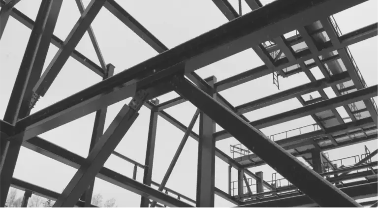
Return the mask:
M23 196L17 197L18 190L15 188L10 188L8 196L5 202L5 208L21 208ZM55 201L51 199L45 199L43 197L32 195L28 202L28 208L52 208ZM118 208L116 200L114 198L107 199L103 203L103 197L100 193L92 196L92 205L99 208ZM79 208L75 206L74 208Z

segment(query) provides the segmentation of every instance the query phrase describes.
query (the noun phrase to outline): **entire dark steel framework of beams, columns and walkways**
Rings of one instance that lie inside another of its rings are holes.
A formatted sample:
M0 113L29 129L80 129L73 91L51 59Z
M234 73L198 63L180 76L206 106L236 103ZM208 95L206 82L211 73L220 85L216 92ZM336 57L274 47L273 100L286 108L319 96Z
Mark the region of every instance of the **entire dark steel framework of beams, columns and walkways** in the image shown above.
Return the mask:
M53 34L63 0L42 0L35 21L14 8L19 1L0 1L0 38L10 17L32 29L4 119L0 120L0 207L5 205L10 186L25 191L22 207L26 207L32 193L56 200L53 208L95 207L91 205L95 177L140 194L141 208L213 208L215 194L243 208L354 208L377 204L376 201L359 204L355 200L378 193L375 169L378 162L371 160L378 150L366 149L350 167L343 165L343 159L338 167L338 161L330 161L323 153L378 137L378 109L372 99L378 96L378 85L366 85L348 49L351 44L378 35L378 23L342 34L332 16L367 0L277 0L265 6L259 0L245 0L252 12L244 15L241 9L239 13L235 11L227 0L213 0L232 21L172 49L164 46L115 0L91 0L85 8L81 0L76 0L81 17L64 41ZM103 7L159 55L114 75L115 67L105 62L91 28ZM100 65L75 50L87 31ZM290 31L295 34L285 38L284 34ZM50 43L59 51L42 73ZM221 81L214 76L202 79L195 73L197 69L249 48L264 65ZM31 114L31 109L45 95L69 57L101 76L103 81ZM315 79L310 71L314 67L320 69L323 79ZM219 93L271 73L279 87L280 77L300 72L311 82L240 106L232 106ZM328 87L336 97L327 96L324 89ZM163 103L155 99L171 91L180 96ZM314 91L320 97L303 99L302 95ZM124 105L104 129L107 107L129 97L132 97L130 103ZM298 99L303 107L255 121L243 116L292 98ZM186 101L197 108L188 127L164 111ZM146 160L145 164L140 164L114 149L143 105L151 110L151 116ZM343 107L349 120L342 118L336 107ZM94 112L95 124L87 158L38 137ZM185 132L161 183L152 180L159 116ZM301 132L303 127L291 130L299 131L295 136L288 136L287 131L267 137L258 130L306 116L316 121L312 125L314 130L308 133ZM197 119L199 134L192 131ZM216 131L215 123L224 130ZM285 136L278 140L280 135ZM195 200L165 187L189 136L198 141ZM234 158L215 145L230 137L241 143L231 147L231 151L239 155ZM21 146L77 169L62 194L13 178ZM111 154L134 165L133 178L103 167ZM228 193L215 187L215 156L229 164ZM297 157L303 157L311 166ZM248 169L263 164L271 166L282 178L266 181L262 172L254 174ZM137 168L144 169L143 182L135 180ZM231 181L233 168L238 171L235 182ZM345 182L356 178L365 179ZM284 182L286 184L282 185Z

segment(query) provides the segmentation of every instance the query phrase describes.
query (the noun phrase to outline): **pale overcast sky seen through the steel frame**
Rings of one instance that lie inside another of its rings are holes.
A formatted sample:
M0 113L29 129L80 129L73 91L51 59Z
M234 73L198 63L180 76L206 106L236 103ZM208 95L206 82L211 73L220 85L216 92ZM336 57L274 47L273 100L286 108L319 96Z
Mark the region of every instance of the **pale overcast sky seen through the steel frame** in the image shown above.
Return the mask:
M84 0L84 4L87 5L89 1L90 0ZM229 1L238 11L238 0ZM266 4L270 1L272 0L263 0L262 2L263 4ZM145 28L150 30L150 32L152 32L152 34L154 34L168 48L172 48L190 38L227 22L227 19L211 0L118 0L117 2L120 3L126 11L138 20ZM40 0L22 0L17 4L16 8L34 20L39 4ZM250 11L250 9L247 8L248 6L244 2L243 13ZM355 8L335 15L335 18L343 33L347 33L378 22L376 8L378 8L378 1L370 0L356 6ZM75 1L64 0L54 34L64 40L79 16L80 13L76 7ZM101 9L95 18L92 27L95 31L97 41L106 63L112 63L115 65L116 73L157 55L150 46L144 43L143 40L118 21L118 19L105 8ZM26 28L13 18L10 18L0 41L0 62L3 67L2 76L0 76L0 93L2 97L2 99L0 99L1 118L4 115L11 93L11 87L13 86L24 55L30 32L30 29ZM378 37L374 37L349 47L368 86L378 84L376 81L378 73L375 69L375 55L377 54L375 48L377 46ZM53 58L57 50L58 49L55 46L50 46L45 67ZM79 45L76 47L76 50L99 65L88 34L83 37ZM197 73L203 78L215 75L218 81L220 81L262 64L263 62L257 57L252 49L249 49L199 69L197 70ZM45 97L38 101L33 112L43 109L82 89L90 87L100 80L101 78L94 72L87 69L76 60L70 58L64 65L63 70L55 80L54 84L46 93ZM303 73L300 73L290 76L289 78L280 79L280 88L282 91L307 82L309 82L308 78ZM243 84L242 86L222 91L221 94L227 98L231 104L236 106L278 91L279 90L276 86L272 84L272 75L267 75ZM176 96L177 94L174 92L169 93L162 96L160 102L164 102ZM129 99L116 103L108 108L105 128L110 124L122 105L128 103L128 100ZM257 120L299 107L301 107L301 104L296 99L292 99L247 113L245 116L250 120ZM170 108L166 110L166 112L188 126L195 110L196 109L189 102L186 102ZM118 152L142 164L145 159L149 116L150 111L143 107L140 111L139 118L135 121L123 141L116 149ZM93 113L40 136L43 139L86 157L88 155L94 118L95 114ZM311 117L306 117L264 128L262 129L262 132L269 136L312 123L314 123L314 120ZM217 131L218 130L221 130L221 127L217 126ZM194 131L198 133L198 122L194 126ZM184 133L182 131L164 119L158 119L153 171L154 181L160 182L163 178L183 135ZM226 139L217 142L217 148L232 156L229 149L230 144L234 145L238 144L238 142L233 138ZM349 146L329 151L330 159L333 160L363 154L365 153L363 145L367 145L371 151L378 148L378 143L376 141ZM352 150L354 151L353 153L351 153ZM133 165L117 158L116 156L111 156L105 166L130 178L132 177ZM196 168L197 142L189 138L182 154L180 155L179 161L168 180L167 187L195 200ZM228 192L227 170L228 165L216 158L216 187L225 192ZM251 169L252 172L258 172L260 170L264 170L265 180L271 180L271 174L273 171L270 168L263 166ZM61 192L75 172L76 170L73 168L44 157L29 149L22 148L14 177L56 192ZM143 170L138 169L137 180L142 181L142 177ZM232 178L233 180L237 179L235 170L233 171ZM94 192L101 192L105 199L114 197L117 200L119 207L139 207L139 195L116 187L102 181L101 179L95 180ZM217 208L232 206L231 203L218 196L215 198L215 203L215 207Z

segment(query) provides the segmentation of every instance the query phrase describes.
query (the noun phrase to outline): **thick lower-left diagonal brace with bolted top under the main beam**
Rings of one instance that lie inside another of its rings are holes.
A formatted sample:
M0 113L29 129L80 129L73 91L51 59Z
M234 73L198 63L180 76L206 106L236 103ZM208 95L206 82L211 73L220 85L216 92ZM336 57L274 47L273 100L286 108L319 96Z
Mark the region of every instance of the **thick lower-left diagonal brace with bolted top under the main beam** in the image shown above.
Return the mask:
M53 208L72 208L75 205L138 117L138 111L146 101L146 97L145 91L139 91L128 105L122 107L89 153L86 165L82 165L72 177Z

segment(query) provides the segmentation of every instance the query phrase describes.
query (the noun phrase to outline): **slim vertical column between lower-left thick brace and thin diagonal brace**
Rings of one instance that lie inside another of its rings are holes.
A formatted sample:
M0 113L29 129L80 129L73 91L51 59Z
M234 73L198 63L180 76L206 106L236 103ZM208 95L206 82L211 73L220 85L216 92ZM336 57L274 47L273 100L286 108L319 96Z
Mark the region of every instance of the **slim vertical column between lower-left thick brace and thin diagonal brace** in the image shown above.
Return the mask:
M155 105L159 104L158 99L154 102ZM158 108L154 107L151 109L150 125L148 129L148 139L147 139L147 149L146 149L146 159L145 168L143 175L143 184L151 186L152 182L152 169L154 165L154 153L155 153L155 139L156 139L156 129L158 127ZM140 200L140 208L148 208L150 200L147 197L143 197Z

